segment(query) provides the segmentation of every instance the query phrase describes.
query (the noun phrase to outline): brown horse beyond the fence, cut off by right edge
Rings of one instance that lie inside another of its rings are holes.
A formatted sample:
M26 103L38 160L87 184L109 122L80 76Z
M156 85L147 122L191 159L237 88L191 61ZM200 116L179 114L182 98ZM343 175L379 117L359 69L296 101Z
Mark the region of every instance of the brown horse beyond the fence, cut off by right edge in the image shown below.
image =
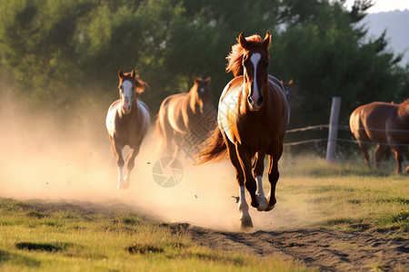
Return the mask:
M402 173L403 156L399 146L409 144L409 99L401 104L372 102L362 105L351 114L349 126L369 168L371 164L366 142L371 140L377 143L376 168L379 168L382 155L390 145L396 158L396 173ZM406 172L409 172L409 166Z

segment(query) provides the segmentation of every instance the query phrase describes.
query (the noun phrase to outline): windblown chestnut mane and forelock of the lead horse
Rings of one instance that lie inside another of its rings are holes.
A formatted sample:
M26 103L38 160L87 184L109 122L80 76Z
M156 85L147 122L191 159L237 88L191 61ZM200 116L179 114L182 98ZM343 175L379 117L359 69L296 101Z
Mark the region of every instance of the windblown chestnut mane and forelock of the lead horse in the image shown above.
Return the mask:
M263 40L257 34L246 37L245 41L247 42L249 48L254 47L254 46L259 46L259 45L260 47L262 47ZM225 71L227 73L232 72L234 74L234 77L243 75L244 71L243 71L242 60L243 60L244 53L248 53L248 50L245 49L240 43L234 44L232 46L232 51L226 57L228 63L225 68ZM268 55L268 52L267 52L267 55Z

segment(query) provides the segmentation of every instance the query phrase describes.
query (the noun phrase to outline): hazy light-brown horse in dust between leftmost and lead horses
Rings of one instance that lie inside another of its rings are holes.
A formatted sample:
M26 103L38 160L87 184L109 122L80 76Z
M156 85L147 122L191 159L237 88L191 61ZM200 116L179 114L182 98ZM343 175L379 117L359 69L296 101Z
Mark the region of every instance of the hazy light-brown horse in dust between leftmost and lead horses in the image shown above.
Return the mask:
M168 155L176 157L181 148L195 152L208 132L214 129L215 111L209 83L210 77L205 80L196 77L189 92L170 95L162 102L156 131L166 145Z

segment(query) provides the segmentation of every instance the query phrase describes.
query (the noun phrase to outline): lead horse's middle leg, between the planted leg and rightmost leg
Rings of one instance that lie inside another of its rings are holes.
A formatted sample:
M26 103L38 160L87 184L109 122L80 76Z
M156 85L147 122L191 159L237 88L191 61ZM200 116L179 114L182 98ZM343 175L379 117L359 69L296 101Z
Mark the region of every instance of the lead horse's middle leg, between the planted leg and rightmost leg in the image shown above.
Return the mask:
M257 185L252 173L252 154L243 145L236 145L237 157L244 172L244 186L248 190L251 197L251 205L258 209L264 210L267 207L267 199L264 196L256 194ZM263 187L263 185L261 186Z

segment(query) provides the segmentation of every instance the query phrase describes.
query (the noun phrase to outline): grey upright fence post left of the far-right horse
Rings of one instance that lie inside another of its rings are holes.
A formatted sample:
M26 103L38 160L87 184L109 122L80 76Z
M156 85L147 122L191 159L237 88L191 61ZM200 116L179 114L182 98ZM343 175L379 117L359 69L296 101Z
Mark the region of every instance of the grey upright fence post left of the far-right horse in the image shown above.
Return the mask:
M336 140L338 137L338 120L341 109L341 97L334 96L331 105L331 116L328 132L328 144L326 146L326 163L333 163L335 160Z

